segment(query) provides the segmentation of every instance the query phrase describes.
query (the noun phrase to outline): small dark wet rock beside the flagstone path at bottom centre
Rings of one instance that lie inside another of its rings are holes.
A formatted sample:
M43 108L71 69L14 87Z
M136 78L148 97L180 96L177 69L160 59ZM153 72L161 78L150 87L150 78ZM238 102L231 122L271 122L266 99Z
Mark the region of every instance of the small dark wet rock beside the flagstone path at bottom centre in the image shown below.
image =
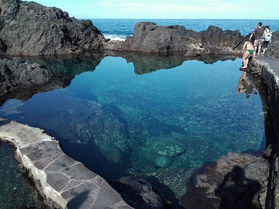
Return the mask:
M110 184L134 208L164 209L171 207L171 202L146 179L122 177L111 181Z

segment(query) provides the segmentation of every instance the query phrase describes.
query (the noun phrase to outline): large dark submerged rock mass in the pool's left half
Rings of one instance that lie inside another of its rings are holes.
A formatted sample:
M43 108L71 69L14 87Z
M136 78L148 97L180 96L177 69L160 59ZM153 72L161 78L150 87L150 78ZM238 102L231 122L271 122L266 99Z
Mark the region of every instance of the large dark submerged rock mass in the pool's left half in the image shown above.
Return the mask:
M124 124L102 104L64 95L61 91L67 90L57 90L52 96L44 95L45 106L41 106L40 110L37 104L24 109L24 111L31 109L33 112L33 115L25 115L24 120L32 124L36 115L40 118L39 127L59 130L57 133L59 138L72 142L73 146L74 144L88 148L97 146L108 160L121 162L122 154L128 152ZM49 107L52 107L51 111ZM22 108L25 107L19 107L18 110Z

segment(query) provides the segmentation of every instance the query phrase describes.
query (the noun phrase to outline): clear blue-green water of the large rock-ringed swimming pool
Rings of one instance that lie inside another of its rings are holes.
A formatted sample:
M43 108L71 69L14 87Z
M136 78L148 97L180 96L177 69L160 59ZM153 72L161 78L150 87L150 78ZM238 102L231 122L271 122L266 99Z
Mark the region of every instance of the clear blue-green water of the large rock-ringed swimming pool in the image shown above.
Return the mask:
M45 129L105 179L148 177L179 199L204 162L265 148L264 96L236 94L241 59L219 59L38 58L53 72L76 77L65 89L6 101L0 117Z

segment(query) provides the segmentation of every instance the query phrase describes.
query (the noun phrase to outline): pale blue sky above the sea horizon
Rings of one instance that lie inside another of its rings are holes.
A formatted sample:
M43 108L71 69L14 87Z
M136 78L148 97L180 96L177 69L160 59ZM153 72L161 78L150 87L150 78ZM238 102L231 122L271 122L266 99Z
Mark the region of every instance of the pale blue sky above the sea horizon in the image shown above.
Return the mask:
M279 19L278 0L35 0L76 18Z

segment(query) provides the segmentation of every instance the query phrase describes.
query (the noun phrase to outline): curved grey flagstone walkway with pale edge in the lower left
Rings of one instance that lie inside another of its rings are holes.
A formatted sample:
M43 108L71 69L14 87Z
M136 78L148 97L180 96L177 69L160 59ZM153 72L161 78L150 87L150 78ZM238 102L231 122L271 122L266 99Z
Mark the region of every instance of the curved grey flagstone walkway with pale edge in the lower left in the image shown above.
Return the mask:
M106 180L67 156L44 130L0 118L0 139L17 147L22 164L41 182L46 197L62 208L132 208Z

